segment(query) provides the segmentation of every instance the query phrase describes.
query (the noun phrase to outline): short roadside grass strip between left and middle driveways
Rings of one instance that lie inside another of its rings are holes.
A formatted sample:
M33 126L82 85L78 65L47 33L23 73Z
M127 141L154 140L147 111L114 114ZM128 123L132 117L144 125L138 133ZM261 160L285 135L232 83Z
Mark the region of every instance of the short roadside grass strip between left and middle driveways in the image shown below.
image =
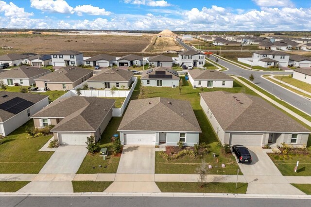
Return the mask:
M73 192L103 192L112 182L71 181Z

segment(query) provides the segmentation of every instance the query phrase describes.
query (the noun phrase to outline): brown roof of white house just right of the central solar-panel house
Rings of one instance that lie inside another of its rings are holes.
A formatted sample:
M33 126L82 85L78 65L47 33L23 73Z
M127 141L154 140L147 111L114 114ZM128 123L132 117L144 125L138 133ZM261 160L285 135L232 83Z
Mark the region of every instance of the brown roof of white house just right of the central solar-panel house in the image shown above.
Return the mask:
M230 76L217 70L190 70L189 75L193 80L233 80Z

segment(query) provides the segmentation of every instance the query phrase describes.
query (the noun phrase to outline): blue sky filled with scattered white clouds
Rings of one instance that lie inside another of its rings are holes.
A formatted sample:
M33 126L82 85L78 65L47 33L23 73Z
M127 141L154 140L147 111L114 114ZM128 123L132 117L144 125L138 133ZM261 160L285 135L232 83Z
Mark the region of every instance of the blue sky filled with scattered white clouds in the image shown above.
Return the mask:
M310 0L0 0L1 28L310 31Z

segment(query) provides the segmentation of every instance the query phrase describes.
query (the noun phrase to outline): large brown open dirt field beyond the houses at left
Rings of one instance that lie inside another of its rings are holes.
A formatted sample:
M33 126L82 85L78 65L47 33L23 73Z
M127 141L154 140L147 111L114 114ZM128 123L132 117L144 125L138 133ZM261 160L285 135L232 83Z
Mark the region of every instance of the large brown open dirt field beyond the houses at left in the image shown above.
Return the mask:
M151 39L152 36L0 34L0 46L13 47L0 49L0 54L42 54L65 49L81 52L141 52Z

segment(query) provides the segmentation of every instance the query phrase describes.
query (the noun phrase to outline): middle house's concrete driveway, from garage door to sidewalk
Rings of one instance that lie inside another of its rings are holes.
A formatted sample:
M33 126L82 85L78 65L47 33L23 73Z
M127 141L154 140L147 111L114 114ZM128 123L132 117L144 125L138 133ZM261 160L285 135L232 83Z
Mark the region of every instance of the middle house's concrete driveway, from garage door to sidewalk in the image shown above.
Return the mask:
M155 174L155 146L124 145L117 174Z

